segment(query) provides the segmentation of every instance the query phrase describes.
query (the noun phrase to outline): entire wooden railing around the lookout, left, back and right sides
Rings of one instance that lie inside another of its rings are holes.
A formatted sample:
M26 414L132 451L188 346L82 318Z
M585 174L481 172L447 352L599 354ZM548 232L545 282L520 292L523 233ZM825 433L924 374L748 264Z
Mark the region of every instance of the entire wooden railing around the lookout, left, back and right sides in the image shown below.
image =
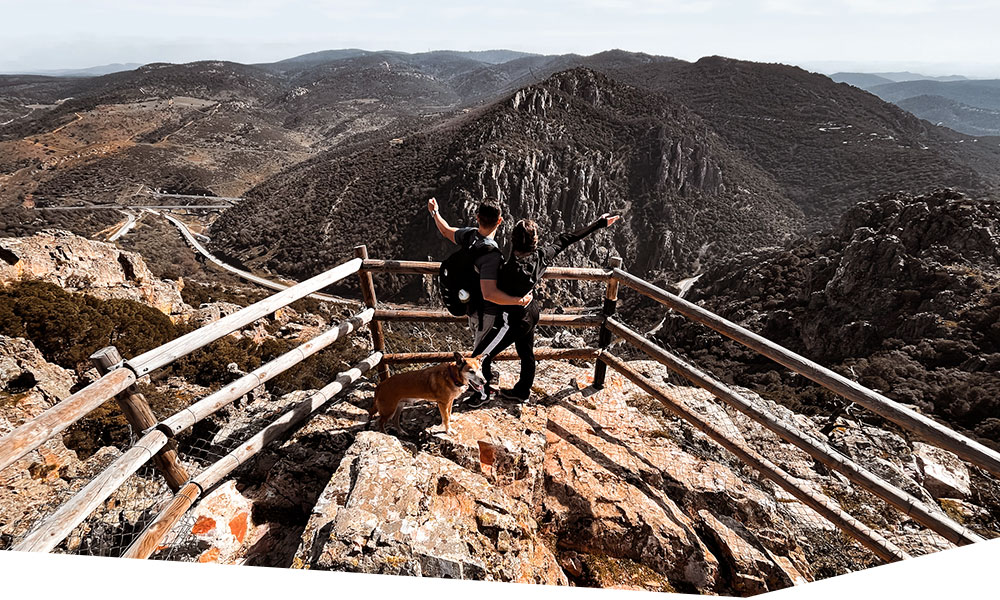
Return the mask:
M783 422L774 415L761 409L742 395L706 375L696 367L653 344L640 334L629 329L615 317L615 308L620 285L631 288L660 302L679 314L702 323L718 331L722 335L750 347L760 354L787 366L793 371L809 377L813 381L833 390L844 397L869 408L873 412L897 423L901 427L917 433L924 439L943 448L955 452L970 463L986 469L995 476L1000 476L1000 455L969 440L950 429L900 406L881 394L864 388L855 382L826 369L808 359L805 359L773 342L766 340L738 325L735 325L704 308L687 302L678 296L670 294L647 281L623 271L620 259L613 259L608 269L582 268L550 268L547 279L575 279L584 281L604 282L606 285L604 305L599 313L543 313L540 324L559 327L594 327L598 328L597 347L586 348L538 348L535 351L538 360L568 360L596 359L594 386L600 388L604 384L606 368L611 367L624 377L645 390L652 397L687 420L693 426L703 431L723 447L733 452L737 457L756 469L764 477L771 479L777 485L788 491L804 504L816 510L838 528L857 539L883 560L906 558L907 554L894 546L878 532L865 526L851 515L844 512L835 502L816 491L804 488L795 478L789 476L781 468L769 462L745 443L734 439L727 432L721 431L700 417L696 412L679 403L665 393L655 383L649 381L619 358L608 351L615 336L621 338L633 347L643 351L654 360L666 365L689 381L698 385L721 401L740 410L753 421L774 432L781 439L794 444L807 452L811 457L827 467L842 473L860 488L871 492L886 501L890 506L911 516L925 527L942 535L954 544L968 544L980 541L982 538L967 528L955 523L936 506L932 507L906 492L887 483L867 471L851 459L833 450L827 444L802 434L795 427ZM244 463L269 441L289 431L322 406L334 395L357 380L363 373L378 369L379 377L389 374L389 365L421 362L438 362L449 360L451 352L406 352L387 353L383 322L414 322L414 323L464 323L465 317L455 317L441 310L427 310L416 306L395 308L380 308L375 293L375 278L378 273L433 275L438 272L440 263L421 261L389 261L370 259L367 250L361 246L356 249L356 258L341 264L330 271L312 279L297 284L287 290L270 296L256 304L248 306L228 317L220 319L201 329L177 338L159 348L117 362L115 354L104 354L98 363L103 364L106 374L83 390L71 395L38 417L15 429L11 434L0 439L0 469L23 457L37 448L47 439L64 431L67 427L82 418L88 412L104 401L122 395L136 394L133 387L136 379L153 370L205 346L237 329L247 325L267 314L286 306L295 300L316 292L332 283L343 280L357 273L361 284L362 298L367 308L351 319L328 329L321 335L298 346L292 351L262 365L253 372L244 375L226 387L202 398L200 401L179 411L175 415L155 423L152 427L142 430L142 437L111 466L96 476L84 489L78 492L67 503L61 506L49 518L33 529L16 546L18 550L49 551L80 524L96 506L104 502L122 483L151 458L160 456L170 447L172 439L179 433L190 428L195 423L215 414L221 408L242 397L250 390L272 379L312 354L329 346L334 341L350 335L368 326L372 334L374 353L359 363L355 368L341 373L338 377L297 406L284 413L280 418L265 426L248 442L206 467L201 473L190 480L173 480L169 470L157 462L157 467L171 483L176 495L160 511L150 525L132 544L126 556L144 558L150 555L163 536L180 519L205 490L217 484L240 464ZM516 359L513 352L504 352L497 360ZM103 362L102 362L103 361ZM117 364L111 364L117 362ZM139 412L143 409L144 400L129 396L129 402L137 404ZM148 409L148 406L145 407ZM123 404L123 410L132 410ZM138 421L137 421L138 422ZM135 426L135 424L133 423Z

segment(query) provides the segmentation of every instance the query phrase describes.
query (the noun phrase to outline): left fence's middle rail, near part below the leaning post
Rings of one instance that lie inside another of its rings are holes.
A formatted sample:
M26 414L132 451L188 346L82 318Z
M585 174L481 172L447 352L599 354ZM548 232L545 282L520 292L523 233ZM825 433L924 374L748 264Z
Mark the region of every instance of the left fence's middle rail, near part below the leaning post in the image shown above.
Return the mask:
M162 431L153 430L142 436L134 446L101 471L86 487L60 506L59 510L42 521L13 549L22 552L51 552L87 515L159 452L167 441L168 438Z

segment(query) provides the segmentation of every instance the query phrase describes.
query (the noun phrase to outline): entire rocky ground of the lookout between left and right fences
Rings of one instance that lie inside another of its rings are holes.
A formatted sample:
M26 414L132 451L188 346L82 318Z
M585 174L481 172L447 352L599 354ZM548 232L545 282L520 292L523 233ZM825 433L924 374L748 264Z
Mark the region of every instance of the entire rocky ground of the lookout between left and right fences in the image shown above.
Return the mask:
M404 411L408 435L368 430L362 383L212 491L161 556L736 595L878 564L634 385L609 373L597 391L592 373L541 363L531 403L458 406L452 435L429 403ZM513 377L503 365L499 385ZM850 490L706 393L664 386L813 489ZM876 525L910 551L947 547L905 519Z

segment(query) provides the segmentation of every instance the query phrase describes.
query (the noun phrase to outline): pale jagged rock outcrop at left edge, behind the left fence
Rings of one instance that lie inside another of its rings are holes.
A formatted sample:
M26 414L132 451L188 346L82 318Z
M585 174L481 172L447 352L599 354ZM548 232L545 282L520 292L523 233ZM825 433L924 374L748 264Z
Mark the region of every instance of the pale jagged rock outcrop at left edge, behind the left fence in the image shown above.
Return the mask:
M125 298L178 319L191 310L178 284L153 277L142 258L65 231L0 238L0 283L40 279L97 298Z

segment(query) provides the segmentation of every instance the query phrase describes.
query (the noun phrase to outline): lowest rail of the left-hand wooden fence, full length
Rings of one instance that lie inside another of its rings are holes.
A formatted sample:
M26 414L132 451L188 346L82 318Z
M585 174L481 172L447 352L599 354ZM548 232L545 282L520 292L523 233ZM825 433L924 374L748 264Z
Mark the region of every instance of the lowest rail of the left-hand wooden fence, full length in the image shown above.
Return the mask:
M257 435L241 444L237 450L222 457L202 471L194 480L174 495L153 522L139 534L139 537L132 542L122 556L124 558L149 558L156 551L164 536L173 529L174 525L191 508L204 490L222 481L236 467L246 462L268 443L280 438L285 432L302 422L347 386L357 381L361 375L375 368L381 360L382 354L375 352L355 365L354 368L340 373L332 383L311 394L308 398L292 407L288 412L262 429Z

